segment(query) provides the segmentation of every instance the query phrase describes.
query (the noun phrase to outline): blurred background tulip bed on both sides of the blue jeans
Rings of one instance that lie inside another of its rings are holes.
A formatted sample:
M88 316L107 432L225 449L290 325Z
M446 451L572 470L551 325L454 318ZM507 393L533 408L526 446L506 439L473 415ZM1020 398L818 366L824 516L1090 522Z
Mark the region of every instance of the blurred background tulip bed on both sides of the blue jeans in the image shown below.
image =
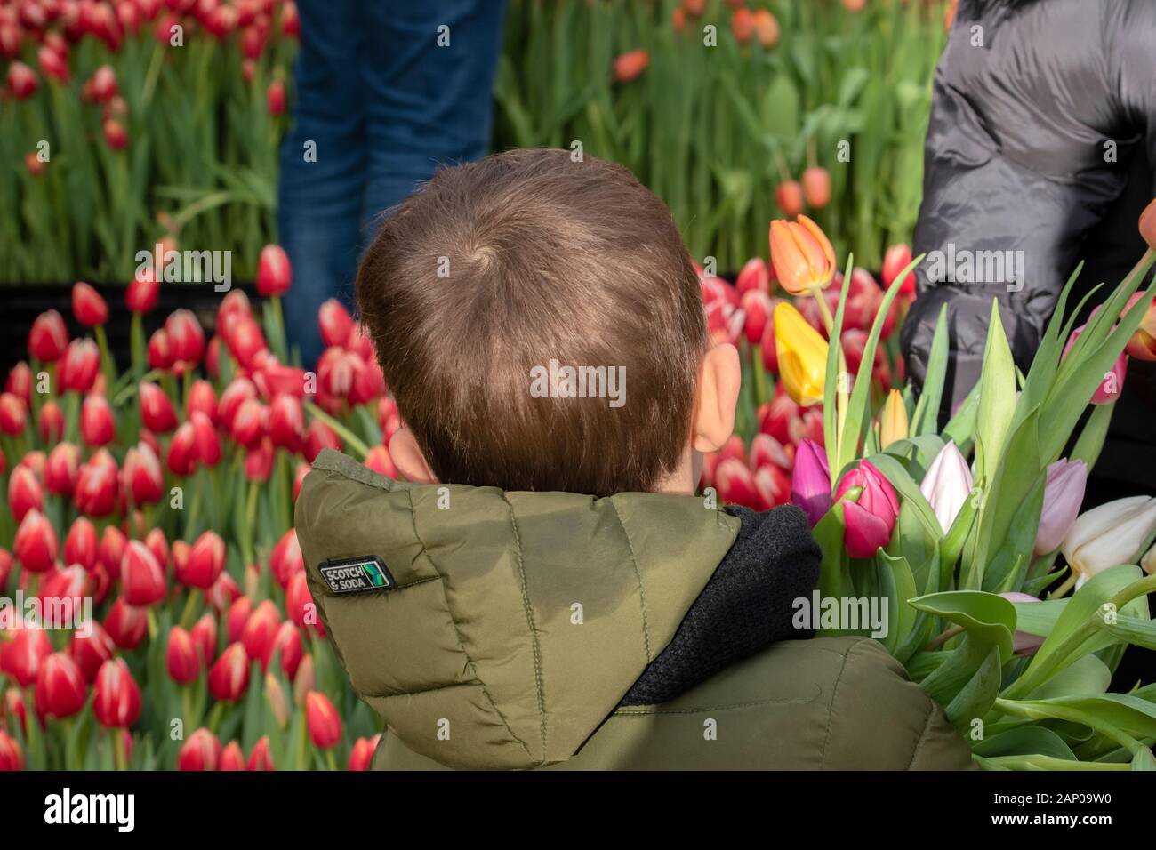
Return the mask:
M494 147L625 164L720 269L805 210L877 269L914 226L944 7L509 0ZM0 0L0 282L127 280L157 243L252 280L298 31L292 0Z

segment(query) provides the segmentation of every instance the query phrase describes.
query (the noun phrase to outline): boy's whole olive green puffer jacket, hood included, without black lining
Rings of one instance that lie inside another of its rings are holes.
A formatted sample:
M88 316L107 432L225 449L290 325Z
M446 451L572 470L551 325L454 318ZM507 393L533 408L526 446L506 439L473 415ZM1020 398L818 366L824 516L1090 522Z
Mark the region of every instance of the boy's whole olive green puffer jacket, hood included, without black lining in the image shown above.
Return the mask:
M781 641L660 705L620 704L739 525L701 498L408 485L332 451L296 509L318 612L386 724L375 768L970 767L865 637Z

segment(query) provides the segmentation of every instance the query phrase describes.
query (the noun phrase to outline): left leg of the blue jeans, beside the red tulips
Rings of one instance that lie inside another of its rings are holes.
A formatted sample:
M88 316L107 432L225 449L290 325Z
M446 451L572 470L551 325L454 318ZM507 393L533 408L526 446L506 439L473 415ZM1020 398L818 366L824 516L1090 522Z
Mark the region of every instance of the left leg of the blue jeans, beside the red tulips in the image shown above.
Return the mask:
M281 148L277 229L294 272L286 330L312 369L321 353L317 310L326 298L349 301L357 268L366 165L357 58L371 34L355 0L298 0L297 7L297 101ZM373 40L373 50L386 50ZM316 162L306 158L307 142L316 143Z

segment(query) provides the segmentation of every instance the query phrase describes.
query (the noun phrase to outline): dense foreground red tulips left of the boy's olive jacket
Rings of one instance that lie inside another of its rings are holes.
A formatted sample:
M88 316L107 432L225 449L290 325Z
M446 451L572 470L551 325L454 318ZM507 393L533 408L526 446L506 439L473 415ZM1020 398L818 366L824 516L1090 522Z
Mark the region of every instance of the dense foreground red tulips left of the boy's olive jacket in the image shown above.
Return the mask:
M43 313L0 393L0 769L364 769L378 724L324 638L292 503L326 446L395 474L372 346L328 302L329 347L294 364L275 245L261 310L230 291L208 340L178 310L146 342L160 276L125 290L125 371L76 283L95 340Z

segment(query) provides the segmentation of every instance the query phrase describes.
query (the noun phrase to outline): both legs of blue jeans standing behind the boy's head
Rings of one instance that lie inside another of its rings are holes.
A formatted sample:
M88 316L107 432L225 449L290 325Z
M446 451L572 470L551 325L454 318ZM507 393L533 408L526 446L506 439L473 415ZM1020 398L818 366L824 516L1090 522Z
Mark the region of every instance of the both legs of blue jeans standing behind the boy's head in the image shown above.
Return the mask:
M377 217L442 163L490 145L503 0L298 0L294 127L281 148L277 228L292 263L290 345L312 368L317 310L351 304ZM447 27L449 30L440 29ZM449 45L439 46L439 34ZM309 142L316 162L306 160Z

